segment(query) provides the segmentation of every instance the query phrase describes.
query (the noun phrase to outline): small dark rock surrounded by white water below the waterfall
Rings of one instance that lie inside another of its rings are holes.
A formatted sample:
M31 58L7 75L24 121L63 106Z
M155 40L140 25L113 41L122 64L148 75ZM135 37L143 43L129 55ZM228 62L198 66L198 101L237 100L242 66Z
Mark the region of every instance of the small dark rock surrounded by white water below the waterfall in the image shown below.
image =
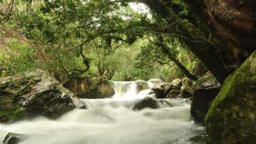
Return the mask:
M138 103L135 104L133 107L133 111L135 110L142 110L145 108L151 108L151 109L158 109L160 106L158 105L158 101L152 99L152 98L144 98Z

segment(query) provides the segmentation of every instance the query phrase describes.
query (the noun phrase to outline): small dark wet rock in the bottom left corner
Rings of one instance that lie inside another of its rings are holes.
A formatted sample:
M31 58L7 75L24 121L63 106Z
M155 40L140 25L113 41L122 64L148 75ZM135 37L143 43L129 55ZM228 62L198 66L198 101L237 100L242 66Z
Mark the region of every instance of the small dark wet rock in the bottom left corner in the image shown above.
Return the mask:
M9 132L6 136L5 139L3 140L3 144L17 144L19 142L24 141L28 137L23 134L14 134Z

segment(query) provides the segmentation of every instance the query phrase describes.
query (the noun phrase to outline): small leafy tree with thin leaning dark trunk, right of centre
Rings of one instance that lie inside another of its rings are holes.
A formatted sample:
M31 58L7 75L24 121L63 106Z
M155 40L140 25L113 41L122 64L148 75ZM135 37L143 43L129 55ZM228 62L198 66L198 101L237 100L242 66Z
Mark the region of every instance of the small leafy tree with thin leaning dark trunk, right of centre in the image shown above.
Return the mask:
M186 77L196 81L198 78L179 61L179 53L181 50L181 43L177 39L169 39L166 37L158 36L154 37L154 40L149 40L147 46L142 47L142 51L138 55L139 62L136 67L146 69L145 73L150 71L149 69L155 69L154 65L159 63L160 65L168 65L170 62L175 63L182 73Z

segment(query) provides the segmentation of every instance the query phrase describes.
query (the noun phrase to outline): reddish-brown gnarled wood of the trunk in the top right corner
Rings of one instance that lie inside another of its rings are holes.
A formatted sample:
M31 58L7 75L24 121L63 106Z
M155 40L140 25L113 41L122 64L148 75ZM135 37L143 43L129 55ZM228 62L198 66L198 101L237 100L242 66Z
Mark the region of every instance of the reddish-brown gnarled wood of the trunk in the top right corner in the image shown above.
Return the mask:
M230 45L249 54L256 49L255 0L207 0L206 5L209 20Z

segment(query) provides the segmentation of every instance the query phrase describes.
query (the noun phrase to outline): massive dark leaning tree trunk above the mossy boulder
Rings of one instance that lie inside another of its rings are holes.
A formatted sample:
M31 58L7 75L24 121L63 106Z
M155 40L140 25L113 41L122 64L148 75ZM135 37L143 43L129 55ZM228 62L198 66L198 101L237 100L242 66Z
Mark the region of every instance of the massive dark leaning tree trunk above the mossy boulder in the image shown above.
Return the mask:
M175 12L172 1L135 0L144 3L163 18ZM211 33L212 43L195 43L198 38L193 29L179 27L181 38L192 52L205 64L221 83L237 69L242 62L256 49L256 1L238 0L183 0L194 17L188 20L197 26L204 35ZM177 15L179 15L176 12ZM198 24L197 21L201 24Z

